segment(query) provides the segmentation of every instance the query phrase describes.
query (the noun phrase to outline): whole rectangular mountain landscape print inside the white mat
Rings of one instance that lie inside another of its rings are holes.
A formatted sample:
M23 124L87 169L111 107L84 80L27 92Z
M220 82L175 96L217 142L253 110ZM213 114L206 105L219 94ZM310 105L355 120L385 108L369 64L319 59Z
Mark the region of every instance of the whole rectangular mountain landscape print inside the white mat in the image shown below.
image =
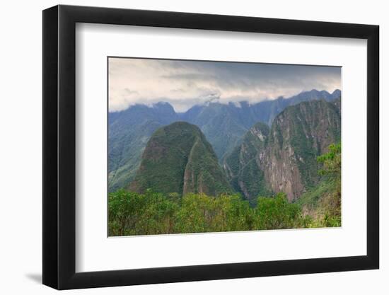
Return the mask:
M341 67L108 57L108 236L341 226Z

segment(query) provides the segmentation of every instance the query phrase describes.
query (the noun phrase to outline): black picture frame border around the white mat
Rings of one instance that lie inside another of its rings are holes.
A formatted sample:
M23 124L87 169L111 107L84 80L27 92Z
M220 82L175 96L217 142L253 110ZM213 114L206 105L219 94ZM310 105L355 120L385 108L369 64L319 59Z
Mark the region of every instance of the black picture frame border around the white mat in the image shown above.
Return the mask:
M367 255L76 272L76 23L347 37L367 40ZM79 289L379 267L379 27L120 8L43 11L43 284Z

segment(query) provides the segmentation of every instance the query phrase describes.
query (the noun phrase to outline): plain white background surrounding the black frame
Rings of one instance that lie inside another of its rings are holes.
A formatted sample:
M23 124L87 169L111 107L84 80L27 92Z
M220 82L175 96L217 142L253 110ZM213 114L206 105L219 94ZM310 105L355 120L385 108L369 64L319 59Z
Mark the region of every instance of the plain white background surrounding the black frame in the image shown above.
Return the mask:
M381 270L230 279L68 291L66 294L388 294L389 292L389 19L385 1L88 0L62 4L219 13L381 26ZM42 9L56 1L6 1L1 6L0 290L53 294L42 286ZM385 71L385 72L384 72ZM386 134L385 134L386 133Z

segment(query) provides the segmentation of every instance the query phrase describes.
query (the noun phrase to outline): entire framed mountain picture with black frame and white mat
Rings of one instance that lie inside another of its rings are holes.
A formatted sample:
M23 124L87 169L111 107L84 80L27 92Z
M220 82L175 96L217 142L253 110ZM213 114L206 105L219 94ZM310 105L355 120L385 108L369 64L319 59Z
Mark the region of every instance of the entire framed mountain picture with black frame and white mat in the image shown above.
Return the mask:
M43 11L43 284L379 266L378 26Z

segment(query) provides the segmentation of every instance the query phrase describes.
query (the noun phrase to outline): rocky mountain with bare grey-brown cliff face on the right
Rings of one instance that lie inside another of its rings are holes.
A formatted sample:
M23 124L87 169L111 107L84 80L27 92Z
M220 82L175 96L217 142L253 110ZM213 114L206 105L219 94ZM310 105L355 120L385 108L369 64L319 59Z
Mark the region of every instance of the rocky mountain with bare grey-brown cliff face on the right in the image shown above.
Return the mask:
M250 202L269 191L286 192L292 201L316 185L320 180L316 158L340 140L337 103L298 103L277 115L270 130L252 127L223 162L231 185Z

